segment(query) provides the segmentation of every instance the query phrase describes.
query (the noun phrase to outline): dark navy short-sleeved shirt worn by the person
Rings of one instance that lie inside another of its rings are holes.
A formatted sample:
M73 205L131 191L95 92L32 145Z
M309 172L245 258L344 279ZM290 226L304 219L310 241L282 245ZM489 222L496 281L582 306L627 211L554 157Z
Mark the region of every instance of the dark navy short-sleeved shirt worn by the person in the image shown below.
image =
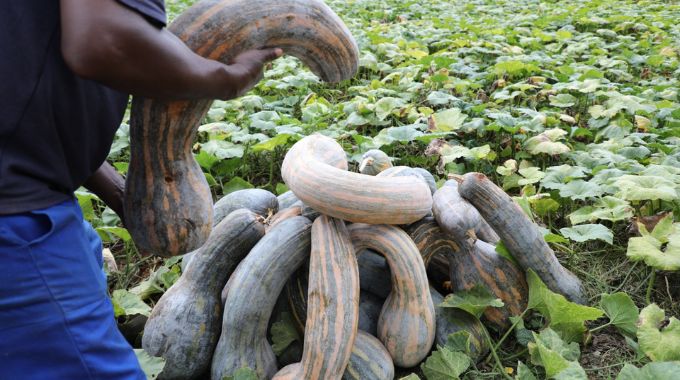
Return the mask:
M163 0L118 1L165 25ZM71 197L123 118L128 94L76 76L60 39L59 1L0 2L0 214Z

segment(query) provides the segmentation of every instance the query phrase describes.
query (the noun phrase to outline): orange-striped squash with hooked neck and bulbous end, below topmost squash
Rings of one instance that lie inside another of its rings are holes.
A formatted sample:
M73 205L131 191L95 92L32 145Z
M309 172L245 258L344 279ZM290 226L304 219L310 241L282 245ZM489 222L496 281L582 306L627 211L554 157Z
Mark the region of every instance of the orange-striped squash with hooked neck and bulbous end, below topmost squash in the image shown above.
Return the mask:
M395 226L352 224L349 231L357 251L372 249L385 256L392 292L380 313L378 338L396 365L412 367L430 352L435 331L434 305L420 252Z

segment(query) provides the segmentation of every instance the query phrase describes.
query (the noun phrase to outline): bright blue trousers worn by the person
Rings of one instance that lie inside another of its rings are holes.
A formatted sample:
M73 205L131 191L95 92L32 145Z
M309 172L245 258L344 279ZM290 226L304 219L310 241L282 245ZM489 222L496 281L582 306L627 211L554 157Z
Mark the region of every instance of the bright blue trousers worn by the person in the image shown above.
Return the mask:
M0 380L146 379L75 199L0 215Z

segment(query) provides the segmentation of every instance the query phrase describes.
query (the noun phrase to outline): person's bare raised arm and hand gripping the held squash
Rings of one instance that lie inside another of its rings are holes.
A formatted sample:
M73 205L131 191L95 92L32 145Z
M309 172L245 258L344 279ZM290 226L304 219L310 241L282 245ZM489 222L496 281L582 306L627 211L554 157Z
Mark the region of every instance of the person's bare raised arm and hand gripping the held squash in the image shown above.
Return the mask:
M229 65L192 52L165 28L115 0L60 0L61 50L77 75L161 99L231 99L252 88L281 49L250 50Z

